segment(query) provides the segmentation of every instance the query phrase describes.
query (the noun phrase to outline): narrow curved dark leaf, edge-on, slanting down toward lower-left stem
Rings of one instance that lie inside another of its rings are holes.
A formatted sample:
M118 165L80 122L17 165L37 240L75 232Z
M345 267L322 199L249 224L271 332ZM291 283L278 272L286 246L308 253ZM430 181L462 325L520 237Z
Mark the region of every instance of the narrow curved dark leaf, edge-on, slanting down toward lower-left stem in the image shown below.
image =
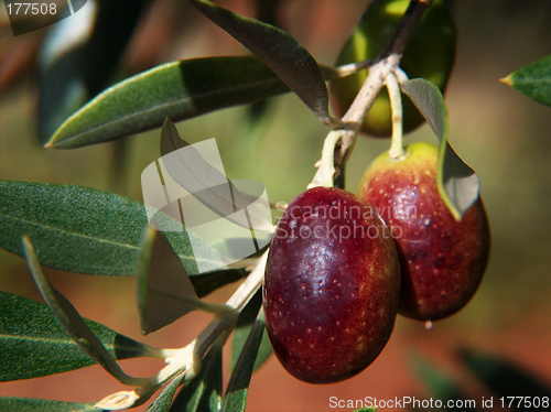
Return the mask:
M52 310L55 318L67 330L76 344L95 361L97 361L107 372L119 381L129 386L140 384L140 379L127 376L115 358L101 344L99 338L88 327L71 302L61 294L46 279L39 262L36 253L30 239L23 237L23 247L29 268L34 278L36 286Z

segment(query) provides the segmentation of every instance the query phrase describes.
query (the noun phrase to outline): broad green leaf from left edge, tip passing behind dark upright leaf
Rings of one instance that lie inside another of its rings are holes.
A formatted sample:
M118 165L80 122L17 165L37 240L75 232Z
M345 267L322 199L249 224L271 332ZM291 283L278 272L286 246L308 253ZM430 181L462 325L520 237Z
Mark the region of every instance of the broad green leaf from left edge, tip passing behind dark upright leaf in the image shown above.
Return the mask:
M166 226L173 221L159 214ZM73 185L0 181L0 247L23 256L21 239L29 235L41 264L76 273L136 273L140 236L148 225L139 202ZM220 253L188 230L166 238L187 273L196 261L217 270ZM206 270L205 270L206 271Z

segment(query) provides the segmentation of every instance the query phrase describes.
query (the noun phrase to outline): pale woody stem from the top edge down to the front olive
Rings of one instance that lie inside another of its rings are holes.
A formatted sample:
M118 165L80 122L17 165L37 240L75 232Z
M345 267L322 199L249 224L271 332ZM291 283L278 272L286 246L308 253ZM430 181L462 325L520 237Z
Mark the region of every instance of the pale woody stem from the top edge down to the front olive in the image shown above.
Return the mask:
M344 167L346 164L356 143L364 118L371 108L380 89L385 86L387 77L392 72L399 69L403 51L421 21L423 13L431 3L432 0L411 0L392 37L376 58L376 63L369 66L369 75L348 108L348 111L343 116L342 120L347 127L334 130L327 135L327 139L335 141L335 144L333 147L324 144L323 150L325 153L322 153L320 166L309 187L333 186L333 182L328 182L327 176L331 175L334 177L336 170ZM334 133L338 133L339 139L335 139Z

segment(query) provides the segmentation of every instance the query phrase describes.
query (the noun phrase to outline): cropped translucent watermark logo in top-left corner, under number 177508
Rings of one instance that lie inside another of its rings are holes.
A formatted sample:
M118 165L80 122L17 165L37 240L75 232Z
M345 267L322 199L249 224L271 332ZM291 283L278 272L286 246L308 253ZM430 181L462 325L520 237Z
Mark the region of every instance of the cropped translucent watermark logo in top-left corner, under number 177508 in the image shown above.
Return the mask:
M13 35L21 35L57 23L80 11L88 0L4 0ZM93 0L90 0L93 1ZM75 23L75 28L78 24Z

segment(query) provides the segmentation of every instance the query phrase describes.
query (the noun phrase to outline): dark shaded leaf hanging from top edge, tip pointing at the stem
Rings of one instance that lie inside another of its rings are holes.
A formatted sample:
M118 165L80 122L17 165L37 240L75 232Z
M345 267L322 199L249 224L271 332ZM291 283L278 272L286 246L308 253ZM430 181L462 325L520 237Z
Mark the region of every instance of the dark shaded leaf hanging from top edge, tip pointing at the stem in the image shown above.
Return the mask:
M191 2L266 63L322 122L331 122L323 75L314 57L296 40L281 29L233 13L210 1Z

